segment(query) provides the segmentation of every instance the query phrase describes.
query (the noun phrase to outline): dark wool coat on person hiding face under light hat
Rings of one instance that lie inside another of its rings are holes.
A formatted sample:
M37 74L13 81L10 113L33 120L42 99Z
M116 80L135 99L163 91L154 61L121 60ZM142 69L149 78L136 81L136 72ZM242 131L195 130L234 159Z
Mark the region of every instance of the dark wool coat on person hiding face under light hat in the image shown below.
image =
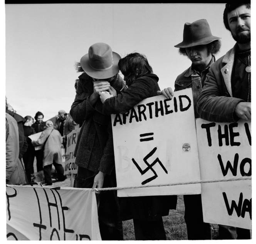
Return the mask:
M117 75L110 85L120 93L125 83L121 76ZM73 120L77 124L83 123L74 151L75 163L95 173L102 171L110 175L115 166L111 117L102 114L100 99L95 106L91 106L89 97L92 94L93 78L82 73L70 110Z

